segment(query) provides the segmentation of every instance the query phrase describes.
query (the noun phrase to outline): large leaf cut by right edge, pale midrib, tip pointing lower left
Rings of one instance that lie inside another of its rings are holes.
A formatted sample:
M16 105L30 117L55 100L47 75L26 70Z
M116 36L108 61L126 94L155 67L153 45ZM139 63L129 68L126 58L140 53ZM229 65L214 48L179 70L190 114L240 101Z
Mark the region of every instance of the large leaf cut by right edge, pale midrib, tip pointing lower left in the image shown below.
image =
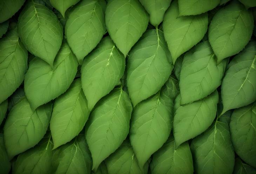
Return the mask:
M223 111L246 106L256 100L256 42L250 42L229 63L221 85Z

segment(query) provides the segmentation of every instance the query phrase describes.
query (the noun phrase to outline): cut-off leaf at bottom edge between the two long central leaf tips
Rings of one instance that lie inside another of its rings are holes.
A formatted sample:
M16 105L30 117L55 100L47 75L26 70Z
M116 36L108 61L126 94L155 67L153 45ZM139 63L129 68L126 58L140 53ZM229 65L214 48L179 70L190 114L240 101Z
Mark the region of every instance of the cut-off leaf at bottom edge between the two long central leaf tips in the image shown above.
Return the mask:
M122 145L106 160L108 174L147 174L148 163L141 170L134 155L129 140L124 140Z

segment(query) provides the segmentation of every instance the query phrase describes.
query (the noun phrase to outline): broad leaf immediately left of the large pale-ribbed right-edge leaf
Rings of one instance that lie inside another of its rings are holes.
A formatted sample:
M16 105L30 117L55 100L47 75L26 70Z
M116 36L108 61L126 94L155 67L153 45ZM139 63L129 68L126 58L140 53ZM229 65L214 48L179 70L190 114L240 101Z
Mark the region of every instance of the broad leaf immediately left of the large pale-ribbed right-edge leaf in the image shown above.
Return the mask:
M207 97L218 86L227 61L216 65L216 56L208 41L204 41L184 56L180 73L181 105Z

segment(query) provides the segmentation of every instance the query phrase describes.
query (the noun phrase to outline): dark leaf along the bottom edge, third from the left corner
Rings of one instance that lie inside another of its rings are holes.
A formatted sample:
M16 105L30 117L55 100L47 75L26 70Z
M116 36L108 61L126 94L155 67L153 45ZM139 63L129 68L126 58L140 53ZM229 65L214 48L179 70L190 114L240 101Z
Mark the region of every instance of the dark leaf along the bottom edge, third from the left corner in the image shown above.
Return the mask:
M59 147L58 163L55 174L90 174L92 169L92 159L85 135L80 134L71 142Z

